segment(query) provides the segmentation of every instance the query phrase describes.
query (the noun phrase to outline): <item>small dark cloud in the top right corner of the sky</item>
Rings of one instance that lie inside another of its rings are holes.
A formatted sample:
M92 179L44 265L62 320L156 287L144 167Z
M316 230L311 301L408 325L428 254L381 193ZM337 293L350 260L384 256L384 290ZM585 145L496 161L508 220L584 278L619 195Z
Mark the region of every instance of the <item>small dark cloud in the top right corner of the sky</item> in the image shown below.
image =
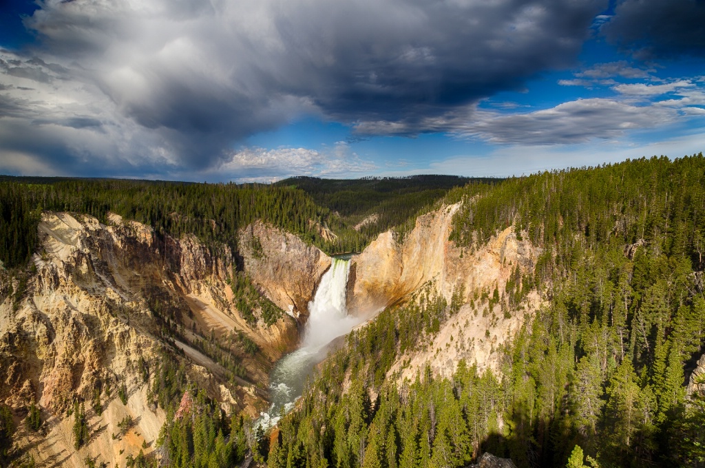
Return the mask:
M705 1L624 0L602 30L639 58L703 57Z

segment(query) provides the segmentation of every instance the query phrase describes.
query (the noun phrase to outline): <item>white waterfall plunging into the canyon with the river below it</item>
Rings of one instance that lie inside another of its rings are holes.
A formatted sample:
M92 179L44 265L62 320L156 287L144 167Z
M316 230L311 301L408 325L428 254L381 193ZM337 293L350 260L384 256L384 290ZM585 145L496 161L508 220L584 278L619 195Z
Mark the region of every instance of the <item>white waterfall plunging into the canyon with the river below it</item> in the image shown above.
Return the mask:
M316 294L308 304L309 319L301 347L279 359L269 374L271 406L259 418L262 426L273 426L281 414L293 408L303 393L307 376L326 357L326 345L360 324L360 319L348 316L345 308L348 271L349 259L333 258L331 267L321 277Z

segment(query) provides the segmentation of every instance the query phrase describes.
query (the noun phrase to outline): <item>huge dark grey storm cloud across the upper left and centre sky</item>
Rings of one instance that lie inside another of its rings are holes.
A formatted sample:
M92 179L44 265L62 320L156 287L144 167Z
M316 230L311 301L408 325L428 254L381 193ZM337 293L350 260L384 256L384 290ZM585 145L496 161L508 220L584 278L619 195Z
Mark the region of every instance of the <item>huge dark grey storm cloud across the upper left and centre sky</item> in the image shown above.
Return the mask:
M59 113L49 118L58 125L77 115L102 126L68 126L97 131L112 123L130 132L129 148L145 164L157 157L204 170L226 160L234 143L306 113L353 124L398 122L406 135L442 131L427 123L569 66L605 6L145 0L133 8L47 0L25 20L40 44L29 59L6 58L4 74L46 83L45 101L49 86L70 92L76 109L47 106ZM71 152L82 144L65 146ZM120 142L107 147L124 151Z

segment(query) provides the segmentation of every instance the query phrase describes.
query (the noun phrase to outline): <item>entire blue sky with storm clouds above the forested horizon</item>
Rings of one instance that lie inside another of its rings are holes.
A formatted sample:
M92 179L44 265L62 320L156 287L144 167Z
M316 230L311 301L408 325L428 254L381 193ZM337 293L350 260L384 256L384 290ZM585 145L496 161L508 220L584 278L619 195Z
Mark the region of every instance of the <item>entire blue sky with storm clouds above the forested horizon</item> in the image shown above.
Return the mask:
M0 0L3 174L505 177L704 149L704 0Z

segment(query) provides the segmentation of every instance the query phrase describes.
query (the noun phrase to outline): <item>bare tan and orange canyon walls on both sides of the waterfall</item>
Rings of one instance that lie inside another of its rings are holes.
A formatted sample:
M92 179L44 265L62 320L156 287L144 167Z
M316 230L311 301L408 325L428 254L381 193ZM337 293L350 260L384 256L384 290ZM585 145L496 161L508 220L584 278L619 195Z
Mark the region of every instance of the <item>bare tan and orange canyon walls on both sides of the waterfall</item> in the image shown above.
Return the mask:
M276 363L299 346L306 350L306 333L330 328L314 316L321 313L314 297L330 287L324 276L336 264L345 265L336 293L344 303L337 313L350 320L326 340L365 326L386 307L442 297L457 304L458 313L423 347L398 357L387 376L402 383L430 369L450 377L461 360L498 374L499 350L546 298L530 290L516 307L489 298L505 290L517 271L532 273L541 250L517 235L515 226L484 245L458 247L449 238L460 207L444 205L419 216L405 235L381 233L345 261L261 221L239 231L233 252L193 235L157 235L114 214L102 224L91 216L45 212L26 284L0 273L0 400L15 411L18 445L47 466L74 467L86 457L122 465L128 455L156 450L168 415L157 405L153 386L165 353L223 412L259 417L275 396L268 387ZM259 310L247 319L238 309L238 275L281 309L274 321L267 323ZM247 342L257 352L247 352ZM204 343L219 343L241 363L242 374L234 375ZM341 345L340 339L333 343ZM705 367L702 359L698 364L694 376ZM302 386L305 378L298 378ZM121 386L125 402L118 398ZM71 403L91 402L96 389L101 410L89 411L92 436L75 450ZM288 395L268 417L281 407L289 410L296 396ZM38 432L21 424L33 402L45 421ZM134 425L121 433L125 417Z

